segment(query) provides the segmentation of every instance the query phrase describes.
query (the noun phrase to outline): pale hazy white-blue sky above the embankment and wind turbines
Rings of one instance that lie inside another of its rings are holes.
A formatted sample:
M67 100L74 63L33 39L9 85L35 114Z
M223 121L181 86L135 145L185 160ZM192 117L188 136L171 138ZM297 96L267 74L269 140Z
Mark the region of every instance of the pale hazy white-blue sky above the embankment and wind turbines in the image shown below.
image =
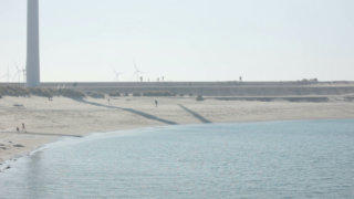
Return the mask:
M354 80L353 0L40 0L42 81ZM0 78L27 0L0 0ZM11 76L12 76L11 75ZM1 78L6 81L7 78Z

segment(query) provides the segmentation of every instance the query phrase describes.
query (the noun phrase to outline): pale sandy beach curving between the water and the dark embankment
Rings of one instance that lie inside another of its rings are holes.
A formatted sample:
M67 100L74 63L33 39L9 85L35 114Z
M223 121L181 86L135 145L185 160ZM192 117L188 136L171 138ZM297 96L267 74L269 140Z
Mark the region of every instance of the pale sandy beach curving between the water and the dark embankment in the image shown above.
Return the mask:
M247 102L195 97L3 97L0 100L0 163L23 156L62 136L138 127L289 119L354 118L354 103ZM22 130L25 124L25 132ZM17 127L20 132L17 132Z

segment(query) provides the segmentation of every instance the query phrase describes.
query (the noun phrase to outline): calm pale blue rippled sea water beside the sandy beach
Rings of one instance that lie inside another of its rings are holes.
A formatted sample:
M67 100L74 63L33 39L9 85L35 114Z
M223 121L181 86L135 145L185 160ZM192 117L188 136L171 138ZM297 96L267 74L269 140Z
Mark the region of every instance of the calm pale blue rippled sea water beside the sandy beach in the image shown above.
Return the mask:
M92 135L11 167L0 198L354 198L354 119Z

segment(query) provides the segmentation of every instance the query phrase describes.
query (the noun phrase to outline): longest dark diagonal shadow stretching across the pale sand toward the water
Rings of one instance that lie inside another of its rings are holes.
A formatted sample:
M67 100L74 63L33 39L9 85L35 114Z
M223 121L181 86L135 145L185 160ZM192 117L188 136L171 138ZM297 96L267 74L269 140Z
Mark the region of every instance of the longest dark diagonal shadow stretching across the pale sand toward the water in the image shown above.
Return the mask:
M85 100L76 100L76 101L85 103L85 104L90 104L90 105L93 105L93 106L100 106L100 107L106 107L106 108L112 108L112 109L121 109L121 111L129 112L129 113L143 116L143 117L145 117L147 119L157 121L157 122L160 122L160 123L164 123L164 124L168 124L168 125L178 125L178 123L175 123L175 122L171 122L171 121L167 121L167 119L163 119L163 118L159 118L159 117L157 117L155 115L150 115L150 114L147 114L147 113L144 113L144 112L140 112L140 111L133 109L133 108L122 108L122 107L117 107L117 106L108 106L108 105L104 105L104 104L100 104L100 103L88 102L88 101L85 101Z

